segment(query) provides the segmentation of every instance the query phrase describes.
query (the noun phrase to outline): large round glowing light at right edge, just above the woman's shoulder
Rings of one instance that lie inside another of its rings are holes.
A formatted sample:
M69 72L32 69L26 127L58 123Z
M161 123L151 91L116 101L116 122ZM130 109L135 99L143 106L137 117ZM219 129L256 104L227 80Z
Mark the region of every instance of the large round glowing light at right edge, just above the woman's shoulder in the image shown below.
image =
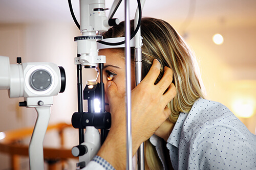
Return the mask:
M255 101L251 98L240 98L233 102L232 108L237 116L249 118L255 113Z

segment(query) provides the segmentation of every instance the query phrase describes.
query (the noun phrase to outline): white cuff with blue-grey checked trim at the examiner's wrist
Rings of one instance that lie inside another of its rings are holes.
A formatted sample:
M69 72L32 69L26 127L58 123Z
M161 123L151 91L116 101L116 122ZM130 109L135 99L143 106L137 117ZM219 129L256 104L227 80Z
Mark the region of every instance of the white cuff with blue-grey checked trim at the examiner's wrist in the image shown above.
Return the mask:
M96 155L92 161L88 163L88 165L82 170L115 170L115 168L105 159L101 158L100 156Z

